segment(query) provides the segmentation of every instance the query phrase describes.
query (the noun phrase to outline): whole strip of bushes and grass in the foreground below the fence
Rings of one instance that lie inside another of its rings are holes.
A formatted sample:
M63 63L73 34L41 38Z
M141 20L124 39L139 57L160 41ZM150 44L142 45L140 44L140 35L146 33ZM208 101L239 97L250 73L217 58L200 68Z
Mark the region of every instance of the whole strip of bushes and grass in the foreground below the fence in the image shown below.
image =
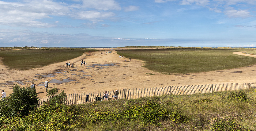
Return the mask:
M14 95L31 88L14 87ZM83 105L65 105L65 93L48 91L49 102L29 113L22 105L9 106L16 113L0 108L2 131L253 131L256 130L256 90L194 95L163 95L134 100L99 101ZM29 93L30 92L30 93ZM32 95L34 96L34 95ZM34 98L34 97L33 97ZM10 97L0 100L1 107L13 105ZM31 99L29 101L33 101ZM30 103L36 105L37 103ZM33 106L31 106L33 107ZM4 112L4 113L3 113ZM20 114L23 112L23 114ZM7 115L8 114L8 115Z

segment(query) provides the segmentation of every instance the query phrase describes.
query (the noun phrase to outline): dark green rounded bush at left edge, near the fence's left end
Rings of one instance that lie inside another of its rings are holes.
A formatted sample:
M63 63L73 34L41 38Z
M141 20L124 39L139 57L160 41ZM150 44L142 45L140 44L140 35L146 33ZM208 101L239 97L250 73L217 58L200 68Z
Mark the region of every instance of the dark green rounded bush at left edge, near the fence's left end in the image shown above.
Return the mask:
M13 86L13 93L0 100L0 116L24 116L38 106L38 97L34 88Z

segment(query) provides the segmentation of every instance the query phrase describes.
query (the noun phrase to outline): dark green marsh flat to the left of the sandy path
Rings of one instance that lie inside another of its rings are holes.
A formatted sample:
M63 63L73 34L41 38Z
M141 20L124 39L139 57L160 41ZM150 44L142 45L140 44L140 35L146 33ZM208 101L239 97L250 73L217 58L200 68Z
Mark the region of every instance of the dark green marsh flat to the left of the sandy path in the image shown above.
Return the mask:
M0 57L3 58L3 64L10 69L31 69L73 59L89 51L95 50L42 47L30 50L0 50Z

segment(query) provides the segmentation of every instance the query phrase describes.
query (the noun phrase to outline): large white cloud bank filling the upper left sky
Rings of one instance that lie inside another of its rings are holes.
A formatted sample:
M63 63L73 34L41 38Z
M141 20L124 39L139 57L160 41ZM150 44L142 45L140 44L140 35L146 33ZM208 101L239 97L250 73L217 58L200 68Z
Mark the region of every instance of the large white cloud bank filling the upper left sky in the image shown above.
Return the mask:
M130 7L136 9L135 7ZM52 0L29 0L19 2L0 1L0 25L49 28L55 23L45 23L40 19L52 19L54 16L67 16L76 19L88 19L93 22L112 19L115 14L109 10L121 10L114 0L83 0L83 4L67 4Z

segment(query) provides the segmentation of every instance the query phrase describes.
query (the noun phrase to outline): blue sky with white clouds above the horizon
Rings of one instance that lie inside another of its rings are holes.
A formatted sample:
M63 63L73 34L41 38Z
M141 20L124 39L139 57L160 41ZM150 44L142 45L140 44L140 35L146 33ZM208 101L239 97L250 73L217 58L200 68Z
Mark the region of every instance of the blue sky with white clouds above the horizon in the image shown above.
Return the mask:
M0 0L0 47L256 47L256 0Z

